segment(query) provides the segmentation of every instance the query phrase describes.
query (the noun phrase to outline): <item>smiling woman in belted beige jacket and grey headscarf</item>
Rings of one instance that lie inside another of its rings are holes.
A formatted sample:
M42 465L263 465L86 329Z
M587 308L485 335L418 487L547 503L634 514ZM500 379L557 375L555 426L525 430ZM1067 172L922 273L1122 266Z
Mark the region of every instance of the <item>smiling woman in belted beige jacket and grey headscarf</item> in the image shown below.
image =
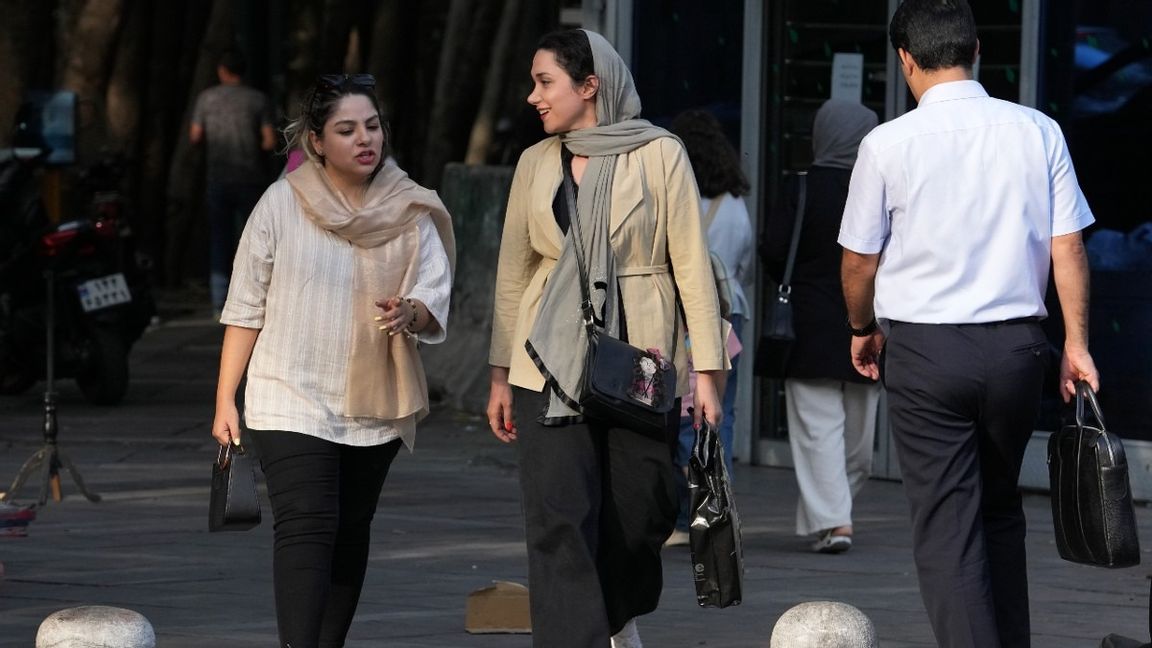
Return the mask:
M729 366L699 196L680 142L637 119L631 73L604 37L545 36L531 76L528 103L554 137L523 153L508 197L488 424L518 446L533 646L638 647L632 619L659 602L660 548L676 517L679 419L653 438L578 409L586 334L575 247L605 331L674 362L676 395L688 389L679 293L699 370L695 423L718 424Z

